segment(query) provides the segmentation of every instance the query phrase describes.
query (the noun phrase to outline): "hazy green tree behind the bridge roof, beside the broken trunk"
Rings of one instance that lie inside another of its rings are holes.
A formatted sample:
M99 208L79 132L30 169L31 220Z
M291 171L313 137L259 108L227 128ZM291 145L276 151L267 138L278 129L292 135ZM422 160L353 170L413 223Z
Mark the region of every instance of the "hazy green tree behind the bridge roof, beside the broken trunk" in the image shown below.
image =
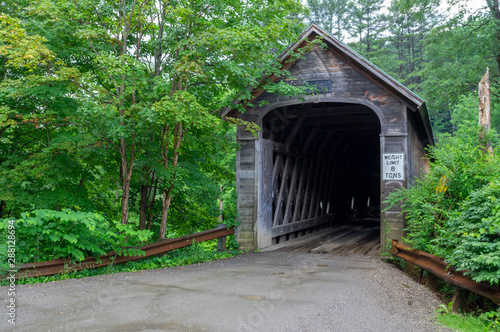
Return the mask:
M496 24L491 16L480 12L466 18L456 17L426 36L427 61L418 75L422 77L422 96L428 100L438 131L452 132L452 124L457 128L460 116L454 116L453 112L460 109L464 98L477 96L477 84L486 67L498 73L495 33ZM492 126L498 129L498 74L492 74L490 80Z

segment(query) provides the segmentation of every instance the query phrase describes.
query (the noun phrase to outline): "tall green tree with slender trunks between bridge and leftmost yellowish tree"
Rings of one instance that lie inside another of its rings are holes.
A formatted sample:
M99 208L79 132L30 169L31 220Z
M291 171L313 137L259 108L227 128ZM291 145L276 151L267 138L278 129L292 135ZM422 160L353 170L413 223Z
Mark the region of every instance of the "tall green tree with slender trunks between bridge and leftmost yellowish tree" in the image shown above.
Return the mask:
M286 75L272 61L273 51L286 48L300 32L300 24L288 17L301 11L295 0L21 1L12 12L30 31L28 35L44 38L61 70L66 68L63 64L72 68L58 79L64 83L59 84L58 118L67 123L54 130L66 150L53 148L51 156L56 158L37 159L45 165L37 176L45 179L53 171L59 175L50 179L53 188L71 194L67 189L76 184L89 204L65 201L53 208L78 205L114 218L119 206L123 224L130 213L134 219L139 215L141 229L153 227L159 219L159 236L164 237L176 182L191 186L197 176L186 169L201 169L198 174L205 184L219 182L217 191L221 185L231 187L225 185L228 176L220 175L227 173L224 161L207 162L203 157L218 153L207 144L225 142L228 129L218 113L235 99L251 99L249 86L272 86L274 79L260 80L263 74ZM22 73L19 82L26 75ZM45 75L55 80L54 75ZM12 102L18 100L15 94L21 88L19 83L13 90ZM53 85L44 88L57 91ZM276 89L290 94L302 91L282 84ZM12 127L19 115L12 109L3 113L5 127ZM32 105L26 113L38 109ZM64 117L65 112L70 116ZM39 142L35 133L40 136L43 131L29 132L23 139ZM50 142L54 143L52 136ZM13 146L6 147L5 155L14 152ZM31 155L25 149L19 162L32 163ZM66 164L59 160L63 157ZM7 172L12 164L5 162L2 167ZM26 181L29 172L22 169L18 183L32 193L33 184ZM67 172L71 169L73 175ZM220 192L213 203L217 196Z

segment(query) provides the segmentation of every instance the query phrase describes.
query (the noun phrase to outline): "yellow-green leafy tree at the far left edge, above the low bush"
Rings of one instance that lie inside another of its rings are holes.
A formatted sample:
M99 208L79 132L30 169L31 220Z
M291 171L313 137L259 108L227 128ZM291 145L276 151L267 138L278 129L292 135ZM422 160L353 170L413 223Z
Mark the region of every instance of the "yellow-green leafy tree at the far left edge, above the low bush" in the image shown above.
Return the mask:
M76 72L30 35L21 20L0 15L0 216L32 209L89 207L84 156L71 157L79 134L70 107Z

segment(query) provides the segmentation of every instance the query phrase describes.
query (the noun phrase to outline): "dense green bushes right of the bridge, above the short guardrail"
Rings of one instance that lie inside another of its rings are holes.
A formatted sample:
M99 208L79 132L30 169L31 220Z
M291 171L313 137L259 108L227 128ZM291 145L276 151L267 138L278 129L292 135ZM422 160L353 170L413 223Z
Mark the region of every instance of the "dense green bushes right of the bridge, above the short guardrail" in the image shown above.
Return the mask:
M476 281L500 283L500 160L483 151L477 130L443 137L430 172L387 203L406 213L405 240L443 257Z

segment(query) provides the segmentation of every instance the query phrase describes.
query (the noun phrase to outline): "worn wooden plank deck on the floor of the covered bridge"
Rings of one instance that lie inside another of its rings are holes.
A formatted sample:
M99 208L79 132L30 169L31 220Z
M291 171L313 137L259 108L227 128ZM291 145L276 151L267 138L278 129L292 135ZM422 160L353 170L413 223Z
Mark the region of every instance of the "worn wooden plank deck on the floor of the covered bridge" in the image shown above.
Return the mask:
M380 253L379 219L355 220L349 224L335 225L261 251L376 256Z

